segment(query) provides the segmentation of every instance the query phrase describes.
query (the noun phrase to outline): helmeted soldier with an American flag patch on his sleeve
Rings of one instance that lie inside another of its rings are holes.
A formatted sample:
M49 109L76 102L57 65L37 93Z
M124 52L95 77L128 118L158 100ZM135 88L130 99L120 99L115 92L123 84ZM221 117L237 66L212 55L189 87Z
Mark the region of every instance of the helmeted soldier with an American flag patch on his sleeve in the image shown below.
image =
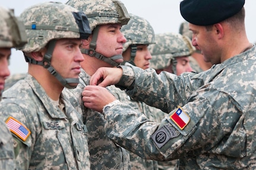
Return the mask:
M81 114L62 95L79 83L81 38L91 33L86 15L59 2L45 2L21 15L28 44L21 48L26 78L4 92L1 118L12 132L17 169L88 169Z

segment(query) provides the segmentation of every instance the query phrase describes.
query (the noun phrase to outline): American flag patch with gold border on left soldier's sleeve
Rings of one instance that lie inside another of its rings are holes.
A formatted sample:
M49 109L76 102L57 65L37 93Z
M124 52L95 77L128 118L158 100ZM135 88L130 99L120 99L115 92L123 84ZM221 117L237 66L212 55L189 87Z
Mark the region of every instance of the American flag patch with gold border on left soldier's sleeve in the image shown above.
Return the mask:
M23 141L26 141L27 137L29 137L31 133L26 126L24 126L22 123L20 123L20 121L13 117L9 117L7 121L5 121L5 124L7 124L7 127L12 133L16 134Z

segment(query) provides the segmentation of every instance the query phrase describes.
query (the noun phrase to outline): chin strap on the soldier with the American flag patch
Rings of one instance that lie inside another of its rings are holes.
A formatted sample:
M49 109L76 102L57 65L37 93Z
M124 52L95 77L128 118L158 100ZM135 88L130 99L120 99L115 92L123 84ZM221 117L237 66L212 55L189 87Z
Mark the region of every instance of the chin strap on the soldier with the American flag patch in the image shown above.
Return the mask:
M45 56L43 56L42 62L38 62L30 57L25 56L26 62L32 63L34 65L40 65L40 66L43 66L44 68L48 69L50 74L55 76L55 78L58 79L58 81L61 82L61 84L63 86L65 86L66 88L69 88L69 89L76 88L77 85L71 86L69 84L79 84L79 78L66 78L65 79L55 70L55 68L53 68L50 65L50 60L52 59L52 53L55 48L55 44L56 44L56 40L51 40L49 42L49 47L47 49L47 52L45 53ZM45 63L46 63L46 65L45 65Z

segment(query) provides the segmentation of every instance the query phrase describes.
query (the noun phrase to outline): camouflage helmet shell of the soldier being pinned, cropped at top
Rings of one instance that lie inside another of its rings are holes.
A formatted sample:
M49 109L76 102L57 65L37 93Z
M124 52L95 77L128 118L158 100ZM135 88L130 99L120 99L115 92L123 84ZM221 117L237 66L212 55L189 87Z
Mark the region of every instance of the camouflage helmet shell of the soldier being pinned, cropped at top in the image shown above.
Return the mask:
M121 1L69 0L66 4L86 13L91 31L97 25L116 23L125 25L129 21L129 14Z

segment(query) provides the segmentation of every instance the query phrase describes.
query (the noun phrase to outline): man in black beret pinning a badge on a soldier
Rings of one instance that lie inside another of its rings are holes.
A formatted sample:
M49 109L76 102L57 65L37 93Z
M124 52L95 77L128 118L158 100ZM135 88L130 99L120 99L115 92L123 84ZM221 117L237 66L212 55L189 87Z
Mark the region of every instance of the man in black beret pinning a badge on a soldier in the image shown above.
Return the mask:
M97 70L83 101L102 111L110 139L146 159L179 158L178 169L256 168L256 47L246 36L244 4L181 1L192 45L213 64L205 72L157 75L134 66ZM109 84L169 116L161 123L149 121L101 87Z

